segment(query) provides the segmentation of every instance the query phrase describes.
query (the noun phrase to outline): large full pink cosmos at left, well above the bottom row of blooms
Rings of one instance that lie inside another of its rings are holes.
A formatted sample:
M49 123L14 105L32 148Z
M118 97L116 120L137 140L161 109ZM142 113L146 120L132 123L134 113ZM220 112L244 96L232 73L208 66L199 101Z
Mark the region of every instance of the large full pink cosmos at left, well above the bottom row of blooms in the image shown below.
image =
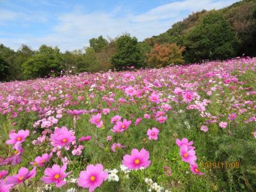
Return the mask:
M76 140L76 136L74 131L68 131L67 127L56 127L54 133L51 134L51 141L54 147L64 147Z

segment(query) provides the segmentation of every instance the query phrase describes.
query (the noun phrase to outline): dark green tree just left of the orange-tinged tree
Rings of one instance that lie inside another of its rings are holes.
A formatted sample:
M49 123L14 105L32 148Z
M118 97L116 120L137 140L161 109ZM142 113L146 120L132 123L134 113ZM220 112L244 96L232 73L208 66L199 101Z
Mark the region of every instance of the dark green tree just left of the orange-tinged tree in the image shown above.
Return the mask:
M116 40L117 51L111 57L111 63L117 70L125 67L143 67L143 56L135 36L125 34Z

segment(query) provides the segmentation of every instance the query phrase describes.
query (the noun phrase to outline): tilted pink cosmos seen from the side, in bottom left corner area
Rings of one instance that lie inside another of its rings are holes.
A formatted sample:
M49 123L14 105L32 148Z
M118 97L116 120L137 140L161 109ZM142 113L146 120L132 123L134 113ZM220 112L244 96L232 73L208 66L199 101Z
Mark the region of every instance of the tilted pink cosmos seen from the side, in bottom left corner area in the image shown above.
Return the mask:
M20 168L19 173L17 175L6 177L5 184L21 184L24 180L31 179L36 175L36 168L29 172L29 170L25 167Z

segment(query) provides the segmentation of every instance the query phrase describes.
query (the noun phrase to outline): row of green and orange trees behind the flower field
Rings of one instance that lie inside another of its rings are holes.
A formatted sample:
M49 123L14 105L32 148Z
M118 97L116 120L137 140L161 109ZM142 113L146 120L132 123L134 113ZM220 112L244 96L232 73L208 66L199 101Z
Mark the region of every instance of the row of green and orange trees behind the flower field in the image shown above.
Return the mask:
M241 44L241 39L230 21L218 11L203 12L204 17L201 12L198 22L185 34L180 35L179 31L184 22L178 22L172 27L177 30L172 30L172 35L153 36L143 42L138 42L135 36L124 33L109 40L102 36L92 38L90 46L66 52L47 45L41 45L37 51L28 45L22 45L20 49L13 51L1 44L0 81L61 76L68 72L124 70L127 67L159 68L240 56L241 46L244 44ZM194 13L193 17L196 14L198 13ZM256 19L256 11L252 17ZM252 39L248 44L252 44L251 41Z

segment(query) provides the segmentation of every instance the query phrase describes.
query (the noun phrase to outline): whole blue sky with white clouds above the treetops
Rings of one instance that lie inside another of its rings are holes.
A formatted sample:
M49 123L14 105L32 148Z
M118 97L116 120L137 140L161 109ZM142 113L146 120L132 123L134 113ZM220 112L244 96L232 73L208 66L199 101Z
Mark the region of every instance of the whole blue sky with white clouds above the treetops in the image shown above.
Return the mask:
M130 33L138 40L159 35L200 10L220 9L237 0L0 0L0 44L33 49L47 44L72 51L99 35Z

